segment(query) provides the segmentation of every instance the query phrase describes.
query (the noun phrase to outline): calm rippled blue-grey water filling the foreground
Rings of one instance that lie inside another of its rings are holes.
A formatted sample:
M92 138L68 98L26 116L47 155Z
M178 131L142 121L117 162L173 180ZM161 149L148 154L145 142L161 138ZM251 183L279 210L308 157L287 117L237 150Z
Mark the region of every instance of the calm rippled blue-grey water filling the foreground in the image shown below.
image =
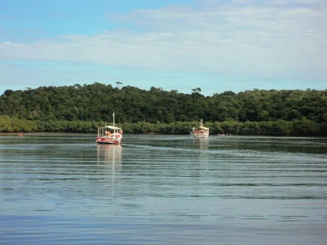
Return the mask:
M327 139L0 136L0 244L326 244Z

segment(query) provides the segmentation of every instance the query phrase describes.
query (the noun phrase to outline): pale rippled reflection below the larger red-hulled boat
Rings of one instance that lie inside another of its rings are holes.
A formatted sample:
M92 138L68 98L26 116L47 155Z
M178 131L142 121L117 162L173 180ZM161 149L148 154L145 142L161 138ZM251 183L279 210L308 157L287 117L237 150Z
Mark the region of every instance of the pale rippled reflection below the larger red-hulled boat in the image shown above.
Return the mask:
M122 145L120 144L97 144L98 166L110 169L114 175L115 170L122 168ZM103 174L108 174L103 171Z

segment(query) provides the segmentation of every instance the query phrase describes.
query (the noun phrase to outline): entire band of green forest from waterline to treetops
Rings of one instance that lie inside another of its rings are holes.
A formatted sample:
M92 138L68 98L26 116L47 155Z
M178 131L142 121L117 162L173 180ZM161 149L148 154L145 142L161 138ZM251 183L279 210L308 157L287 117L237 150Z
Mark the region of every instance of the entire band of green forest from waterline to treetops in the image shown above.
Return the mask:
M119 85L119 84L118 84ZM204 120L212 134L327 135L327 90L225 91L212 96L101 83L6 90L0 132L96 132L112 121L126 133L186 134Z

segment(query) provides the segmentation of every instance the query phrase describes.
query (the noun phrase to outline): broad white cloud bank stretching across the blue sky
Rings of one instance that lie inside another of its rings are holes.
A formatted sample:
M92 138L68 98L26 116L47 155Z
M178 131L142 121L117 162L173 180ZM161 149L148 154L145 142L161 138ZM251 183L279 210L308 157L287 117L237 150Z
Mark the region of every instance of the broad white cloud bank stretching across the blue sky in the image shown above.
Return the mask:
M110 18L142 31L104 31L34 43L7 40L0 43L0 58L327 79L323 1L206 0L196 7L135 10Z

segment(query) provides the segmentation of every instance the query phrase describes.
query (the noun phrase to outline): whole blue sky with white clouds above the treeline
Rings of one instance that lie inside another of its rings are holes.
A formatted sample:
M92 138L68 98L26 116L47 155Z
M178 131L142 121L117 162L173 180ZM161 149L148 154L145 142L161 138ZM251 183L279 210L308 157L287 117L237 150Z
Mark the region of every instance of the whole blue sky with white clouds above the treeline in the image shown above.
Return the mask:
M327 88L326 0L0 0L0 95Z

